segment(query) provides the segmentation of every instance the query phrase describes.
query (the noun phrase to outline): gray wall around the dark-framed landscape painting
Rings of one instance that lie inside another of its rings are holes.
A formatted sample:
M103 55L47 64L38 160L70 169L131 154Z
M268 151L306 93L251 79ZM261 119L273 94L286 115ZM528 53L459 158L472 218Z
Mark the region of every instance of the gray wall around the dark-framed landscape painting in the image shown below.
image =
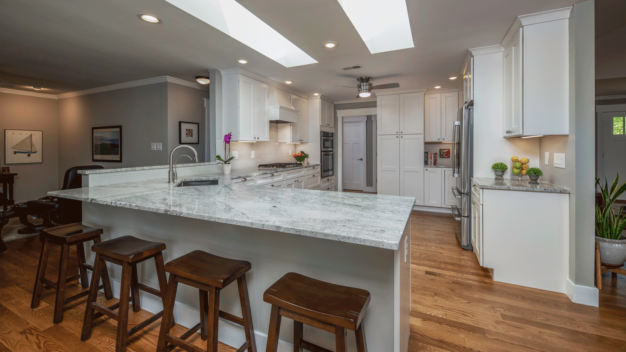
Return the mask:
M58 102L59 183L65 171L74 166L118 168L167 163L167 82L73 96ZM92 162L91 128L113 125L122 126L122 162ZM150 143L163 143L163 150L150 150Z

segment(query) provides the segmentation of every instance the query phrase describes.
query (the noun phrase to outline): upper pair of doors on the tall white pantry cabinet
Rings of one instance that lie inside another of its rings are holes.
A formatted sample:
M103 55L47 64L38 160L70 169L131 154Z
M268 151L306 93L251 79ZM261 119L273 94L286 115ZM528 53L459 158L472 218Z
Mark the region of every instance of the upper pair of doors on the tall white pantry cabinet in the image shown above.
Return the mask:
M424 92L377 96L377 135L424 133Z

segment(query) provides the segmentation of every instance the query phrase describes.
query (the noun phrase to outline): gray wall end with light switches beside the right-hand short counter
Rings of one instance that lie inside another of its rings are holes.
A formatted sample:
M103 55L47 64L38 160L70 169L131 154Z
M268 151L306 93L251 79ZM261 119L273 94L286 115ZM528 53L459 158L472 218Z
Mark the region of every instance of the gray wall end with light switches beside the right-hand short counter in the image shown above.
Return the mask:
M542 137L543 180L570 194L569 279L593 287L595 190L595 48L594 2L575 4L570 17L570 134ZM566 167L555 168L553 153L566 154Z

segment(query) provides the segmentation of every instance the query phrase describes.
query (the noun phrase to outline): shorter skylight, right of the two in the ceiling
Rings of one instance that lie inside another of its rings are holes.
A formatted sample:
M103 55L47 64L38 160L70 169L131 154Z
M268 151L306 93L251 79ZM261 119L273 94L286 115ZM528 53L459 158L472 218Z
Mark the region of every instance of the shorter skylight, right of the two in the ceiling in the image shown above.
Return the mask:
M406 0L337 0L372 54L414 48Z

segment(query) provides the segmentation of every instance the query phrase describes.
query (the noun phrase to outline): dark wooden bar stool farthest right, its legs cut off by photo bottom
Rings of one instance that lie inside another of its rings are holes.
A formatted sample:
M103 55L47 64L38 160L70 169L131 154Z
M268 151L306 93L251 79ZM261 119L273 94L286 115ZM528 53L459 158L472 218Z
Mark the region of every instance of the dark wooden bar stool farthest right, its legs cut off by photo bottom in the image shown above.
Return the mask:
M282 316L294 320L294 351L332 352L303 339L304 323L334 333L336 352L346 352L345 329L350 329L356 334L357 351L367 352L362 319L370 296L364 289L289 272L265 291L263 300L272 304L265 352L276 352Z

